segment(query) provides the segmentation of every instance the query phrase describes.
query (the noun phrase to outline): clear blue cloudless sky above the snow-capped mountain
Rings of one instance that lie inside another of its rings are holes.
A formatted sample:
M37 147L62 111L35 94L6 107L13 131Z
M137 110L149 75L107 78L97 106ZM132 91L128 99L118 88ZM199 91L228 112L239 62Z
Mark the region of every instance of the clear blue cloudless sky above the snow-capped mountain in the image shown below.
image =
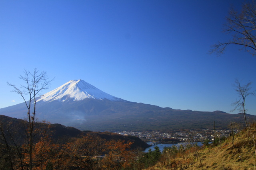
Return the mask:
M22 102L6 82L23 69L56 76L49 92L82 79L132 102L174 109L230 111L236 78L256 90L256 57L210 46L234 0L0 1L0 108ZM15 102L14 102L15 101ZM256 97L247 100L256 115ZM238 113L235 111L233 113Z

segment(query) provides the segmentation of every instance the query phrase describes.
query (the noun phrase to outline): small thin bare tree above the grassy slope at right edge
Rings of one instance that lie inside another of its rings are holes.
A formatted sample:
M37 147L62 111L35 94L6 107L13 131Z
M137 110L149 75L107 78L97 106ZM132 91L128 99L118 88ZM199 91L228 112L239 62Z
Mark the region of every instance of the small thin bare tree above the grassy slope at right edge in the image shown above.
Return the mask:
M248 124L246 121L247 109L245 109L245 100L247 96L255 95L255 92L256 92L255 90L254 91L251 90L251 87L250 87L251 84L252 82L248 82L247 84L241 85L241 82L239 80L236 80L234 87L235 87L236 93L240 98L239 100L236 100L236 102L232 103L232 106L235 106L232 111L235 111L236 109L238 109L238 111L241 111L242 113L244 113L244 121L247 128L248 128Z

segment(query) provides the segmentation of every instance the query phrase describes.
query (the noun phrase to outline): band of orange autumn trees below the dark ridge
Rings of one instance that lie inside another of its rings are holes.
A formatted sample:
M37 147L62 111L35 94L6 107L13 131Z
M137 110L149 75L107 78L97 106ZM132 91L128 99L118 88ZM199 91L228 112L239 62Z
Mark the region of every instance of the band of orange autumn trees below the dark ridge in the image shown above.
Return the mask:
M106 141L95 134L74 138L66 144L54 144L50 138L42 137L34 145L33 166L45 169L118 170L130 166L133 157L132 142ZM24 151L26 147L24 147ZM23 162L28 163L29 154L23 153ZM17 169L22 169L21 167Z

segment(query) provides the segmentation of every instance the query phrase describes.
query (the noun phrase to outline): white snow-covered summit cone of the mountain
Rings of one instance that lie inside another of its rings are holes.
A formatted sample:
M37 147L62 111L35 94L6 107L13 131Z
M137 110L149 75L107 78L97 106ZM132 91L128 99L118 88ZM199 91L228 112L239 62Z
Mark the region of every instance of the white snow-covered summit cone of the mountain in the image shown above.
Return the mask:
M91 84L85 82L84 80L70 80L69 82L63 84L62 86L44 94L41 96L39 101L52 101L59 100L64 102L65 100L84 100L86 98L98 99L98 100L122 100L102 92L98 88L92 86Z

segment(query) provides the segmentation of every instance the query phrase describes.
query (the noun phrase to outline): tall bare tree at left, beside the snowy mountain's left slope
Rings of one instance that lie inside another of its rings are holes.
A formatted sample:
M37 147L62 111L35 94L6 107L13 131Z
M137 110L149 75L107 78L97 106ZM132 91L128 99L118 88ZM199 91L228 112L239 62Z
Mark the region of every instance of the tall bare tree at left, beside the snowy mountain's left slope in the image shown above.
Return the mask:
M7 82L9 86L12 86L14 90L22 99L24 100L26 107L28 109L28 135L29 135L29 153L30 153L30 162L29 168L32 170L32 149L33 149L33 139L34 139L34 122L36 115L36 98L40 96L42 90L48 89L50 83L54 80L49 79L46 72L39 72L37 68L34 68L33 72L24 69L24 76L20 75L19 78L24 81L24 85L21 85L18 88L14 84Z

